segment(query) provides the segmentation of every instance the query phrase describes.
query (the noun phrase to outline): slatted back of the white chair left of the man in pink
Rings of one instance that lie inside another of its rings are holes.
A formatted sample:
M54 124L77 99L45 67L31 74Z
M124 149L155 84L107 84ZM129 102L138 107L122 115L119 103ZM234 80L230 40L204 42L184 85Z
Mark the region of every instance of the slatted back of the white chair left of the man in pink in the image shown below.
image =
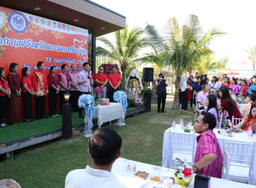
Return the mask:
M175 160L172 158L173 153L179 153L181 156L183 154L191 154L191 161L194 161L195 154L195 132L193 134L183 134L170 132L170 156L171 160ZM189 160L190 158L186 158Z

